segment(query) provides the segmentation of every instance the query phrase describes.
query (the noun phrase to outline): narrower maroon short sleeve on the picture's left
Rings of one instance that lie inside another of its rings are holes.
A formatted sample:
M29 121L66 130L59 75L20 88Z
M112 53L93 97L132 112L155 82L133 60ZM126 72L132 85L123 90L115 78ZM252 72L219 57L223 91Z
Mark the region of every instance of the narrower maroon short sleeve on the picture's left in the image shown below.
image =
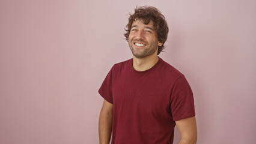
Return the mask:
M113 67L109 71L108 75L106 76L105 80L102 83L102 86L100 86L99 94L109 103L113 103L112 98L112 73L113 73Z

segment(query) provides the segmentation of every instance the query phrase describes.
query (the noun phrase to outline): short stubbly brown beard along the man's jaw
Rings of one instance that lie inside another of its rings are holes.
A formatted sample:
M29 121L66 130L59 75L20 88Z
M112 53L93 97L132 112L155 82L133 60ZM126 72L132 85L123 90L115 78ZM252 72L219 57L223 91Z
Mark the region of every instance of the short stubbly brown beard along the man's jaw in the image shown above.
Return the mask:
M130 50L132 51L133 56L139 59L153 55L153 53L155 53L156 50L158 49L157 43L152 43L151 45L147 44L145 47L141 49L136 49L135 47L133 47L134 45L135 44L133 44L132 41L129 41L129 47L130 47Z

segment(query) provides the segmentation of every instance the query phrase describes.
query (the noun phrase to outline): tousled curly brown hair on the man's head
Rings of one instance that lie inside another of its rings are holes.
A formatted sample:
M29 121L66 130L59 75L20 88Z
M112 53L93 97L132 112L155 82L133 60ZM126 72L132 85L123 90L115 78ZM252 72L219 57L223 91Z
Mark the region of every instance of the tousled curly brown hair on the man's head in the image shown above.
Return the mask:
M126 33L124 37L126 37L126 41L129 41L130 29L132 27L132 23L137 19L142 19L145 25L148 25L150 21L154 23L154 29L156 29L157 38L160 43L165 44L165 41L168 37L169 28L167 22L165 20L165 16L161 14L161 12L155 7L143 6L136 7L134 14L129 14L129 22L126 25ZM160 46L157 51L157 55L165 48L165 46Z

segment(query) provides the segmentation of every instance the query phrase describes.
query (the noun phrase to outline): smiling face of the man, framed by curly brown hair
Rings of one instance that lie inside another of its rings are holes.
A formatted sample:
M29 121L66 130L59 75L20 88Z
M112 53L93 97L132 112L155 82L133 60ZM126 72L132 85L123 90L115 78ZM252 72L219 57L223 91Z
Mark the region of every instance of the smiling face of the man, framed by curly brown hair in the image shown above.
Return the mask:
M157 39L156 30L152 21L145 25L143 20L137 19L132 23L129 35L129 47L133 56L136 58L145 58L156 55L158 46L162 43Z

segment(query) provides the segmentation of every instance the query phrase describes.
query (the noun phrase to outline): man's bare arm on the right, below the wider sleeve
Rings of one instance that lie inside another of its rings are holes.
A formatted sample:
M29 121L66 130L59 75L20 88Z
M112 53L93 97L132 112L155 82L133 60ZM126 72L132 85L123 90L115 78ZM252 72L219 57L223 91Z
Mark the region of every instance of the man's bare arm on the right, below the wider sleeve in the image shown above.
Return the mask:
M175 121L178 131L180 131L180 141L178 144L197 143L197 122L195 116L192 118Z

